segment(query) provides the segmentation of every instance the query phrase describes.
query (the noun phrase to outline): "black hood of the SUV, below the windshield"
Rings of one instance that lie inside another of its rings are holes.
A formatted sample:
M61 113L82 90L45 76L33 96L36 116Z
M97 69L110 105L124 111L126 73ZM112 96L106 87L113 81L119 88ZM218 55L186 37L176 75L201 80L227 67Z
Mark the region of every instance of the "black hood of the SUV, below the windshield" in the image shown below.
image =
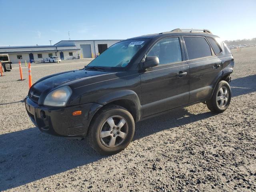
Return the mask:
M90 79L94 76L102 76L104 74L109 74L109 72L89 70L67 71L41 78L32 87L36 90L39 90L40 92L44 92L44 90L51 90L53 88L56 88L57 86L69 85L73 82L78 82L84 79Z

